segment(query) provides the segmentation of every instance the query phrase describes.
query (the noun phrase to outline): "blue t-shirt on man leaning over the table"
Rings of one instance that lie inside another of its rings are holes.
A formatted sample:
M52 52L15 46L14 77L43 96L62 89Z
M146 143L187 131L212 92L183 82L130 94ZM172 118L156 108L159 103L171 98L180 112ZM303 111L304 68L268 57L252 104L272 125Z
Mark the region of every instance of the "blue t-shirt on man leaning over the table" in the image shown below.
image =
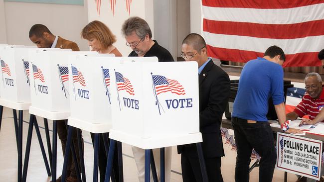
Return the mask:
M233 117L255 121L268 121L268 100L273 104L285 101L284 70L264 58L247 62L242 70L233 105Z

